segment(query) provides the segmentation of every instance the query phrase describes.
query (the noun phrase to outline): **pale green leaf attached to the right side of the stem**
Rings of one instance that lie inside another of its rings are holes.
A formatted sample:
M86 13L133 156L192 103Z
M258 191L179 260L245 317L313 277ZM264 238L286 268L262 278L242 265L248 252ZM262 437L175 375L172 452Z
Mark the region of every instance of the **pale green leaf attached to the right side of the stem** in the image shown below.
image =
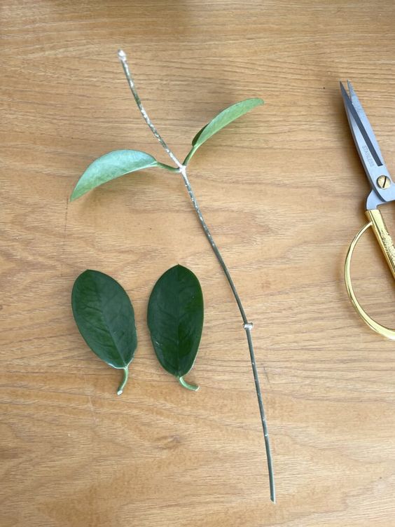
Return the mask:
M192 139L192 149L186 156L183 164L186 165L190 158L193 156L195 151L198 150L199 146L212 137L216 132L222 130L226 125L235 121L238 117L241 117L244 114L247 114L247 111L252 110L253 108L263 104L262 99L246 99L244 101L236 102L232 106L221 111L212 121L205 125Z

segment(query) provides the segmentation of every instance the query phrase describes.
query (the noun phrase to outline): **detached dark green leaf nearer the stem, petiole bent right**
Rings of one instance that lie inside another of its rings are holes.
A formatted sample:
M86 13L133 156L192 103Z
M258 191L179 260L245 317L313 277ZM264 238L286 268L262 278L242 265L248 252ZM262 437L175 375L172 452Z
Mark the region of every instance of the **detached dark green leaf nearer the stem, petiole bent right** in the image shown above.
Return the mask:
M198 278L174 266L156 282L148 301L148 328L162 367L189 390L184 381L195 362L203 329L203 295Z

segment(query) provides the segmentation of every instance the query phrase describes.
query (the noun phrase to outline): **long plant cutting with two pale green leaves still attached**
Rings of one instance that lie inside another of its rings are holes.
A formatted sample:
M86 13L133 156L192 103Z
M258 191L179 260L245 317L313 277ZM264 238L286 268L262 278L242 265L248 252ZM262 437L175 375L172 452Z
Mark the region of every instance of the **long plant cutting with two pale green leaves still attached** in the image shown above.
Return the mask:
M167 153L167 155L172 160L172 163L174 163L175 166L167 165L165 163L160 163L153 156L151 156L150 154L146 152L142 152L142 151L137 151L137 150L112 151L112 152L106 153L104 156L97 158L95 161L93 161L93 163L91 163L88 166L88 168L85 170L81 178L78 180L78 183L76 184L74 191L71 194L71 200L80 198L81 196L83 196L83 194L87 193L88 191L92 189L95 189L95 187L99 185L109 182L111 179L115 179L117 177L123 176L124 174L129 174L130 172L135 172L137 170L143 170L145 168L158 167L161 170L168 170L170 172L176 172L180 174L181 178L183 179L183 184L186 186L186 190L188 192L190 200L192 201L195 212L196 214L198 214L200 225L202 226L202 229L205 232L205 235L207 239L209 240L210 245L212 246L214 254L216 255L216 258L218 259L219 264L221 265L223 273L225 273L226 275L230 288L232 289L233 296L235 297L235 301L237 302L237 306L240 310L243 328L247 336L251 367L252 367L253 374L254 374L256 395L258 397L258 406L259 406L259 411L261 413L261 423L263 427L263 436L265 440L266 457L268 460L270 499L273 502L275 502L275 479L274 479L274 472L273 472L273 467L272 467L272 456L271 456L271 451L270 451L268 425L266 423L266 418L265 418L265 410L263 407L261 387L259 383L258 370L256 368L256 361L255 361L255 355L254 355L254 345L253 345L252 336L251 336L251 330L252 330L253 324L247 318L247 315L244 311L244 307L242 305L242 301L240 300L240 296L237 293L237 289L235 287L233 279L230 276L230 272L228 271L226 263L223 261L221 252L219 252L219 248L214 242L212 234L209 231L209 228L205 222L205 219L203 218L202 211L200 210L200 206L198 205L198 201L195 197L195 193L193 192L193 189L190 186L190 181L188 179L188 174L187 174L188 163L190 162L190 159L195 155L196 151L198 151L200 146L202 146L202 144L204 144L210 137L212 137L214 134L219 132L226 125L235 121L235 119L243 116L244 114L247 114L247 112L250 111L251 109L254 109L260 106L261 104L263 104L263 100L259 98L243 100L221 111L216 117L212 119L212 121L210 121L209 123L207 123L207 125L201 128L199 132L195 135L195 137L193 137L192 147L188 155L186 156L186 158L181 163L179 158L177 158L174 152L169 148L169 146L167 146L167 143L162 138L162 136L158 132L155 125L153 125L151 119L148 117L148 114L146 113L146 110L141 104L139 94L137 93L136 87L134 85L134 81L132 79L132 75L130 74L129 66L127 64L127 57L125 53L123 52L123 50L120 50L118 52L118 57L123 66L123 71L125 72L125 76L127 78L127 82L129 83L130 90L132 91L134 100L137 104L137 107L139 108L141 115L144 118L144 121L146 121L146 124L151 129L151 132L153 132L153 135L156 137L156 139L158 139L158 142L163 147L163 149L165 149L165 152Z

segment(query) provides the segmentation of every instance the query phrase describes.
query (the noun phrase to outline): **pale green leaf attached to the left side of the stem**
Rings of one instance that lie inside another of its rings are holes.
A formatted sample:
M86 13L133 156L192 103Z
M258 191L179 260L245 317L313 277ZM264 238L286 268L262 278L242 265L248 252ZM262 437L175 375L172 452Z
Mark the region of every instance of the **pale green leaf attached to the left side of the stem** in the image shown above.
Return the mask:
M83 194L111 181L111 179L116 179L116 177L136 170L158 166L163 165L148 153L139 150L115 150L106 153L88 166L78 180L70 200L81 198Z

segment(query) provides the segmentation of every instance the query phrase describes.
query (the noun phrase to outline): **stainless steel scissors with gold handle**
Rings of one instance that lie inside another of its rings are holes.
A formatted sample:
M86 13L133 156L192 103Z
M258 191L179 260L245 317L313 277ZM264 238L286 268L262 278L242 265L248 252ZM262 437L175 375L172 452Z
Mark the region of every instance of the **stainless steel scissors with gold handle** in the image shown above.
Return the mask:
M354 137L356 149L361 158L362 165L365 169L372 190L368 194L366 200L366 217L368 218L368 223L356 233L354 240L352 240L347 251L345 259L345 284L349 299L351 300L356 313L362 317L371 329L377 331L377 333L382 336L395 340L394 329L382 326L382 324L373 320L373 318L362 308L361 304L356 299L351 282L350 267L352 254L361 235L363 235L369 227L373 229L389 269L395 278L395 247L378 208L384 203L395 201L395 184L385 166L380 147L378 146L368 118L366 117L362 105L359 102L358 97L356 97L354 88L352 88L352 84L349 81L347 81L347 87L348 92L344 85L340 83L340 90L342 92L352 137Z

